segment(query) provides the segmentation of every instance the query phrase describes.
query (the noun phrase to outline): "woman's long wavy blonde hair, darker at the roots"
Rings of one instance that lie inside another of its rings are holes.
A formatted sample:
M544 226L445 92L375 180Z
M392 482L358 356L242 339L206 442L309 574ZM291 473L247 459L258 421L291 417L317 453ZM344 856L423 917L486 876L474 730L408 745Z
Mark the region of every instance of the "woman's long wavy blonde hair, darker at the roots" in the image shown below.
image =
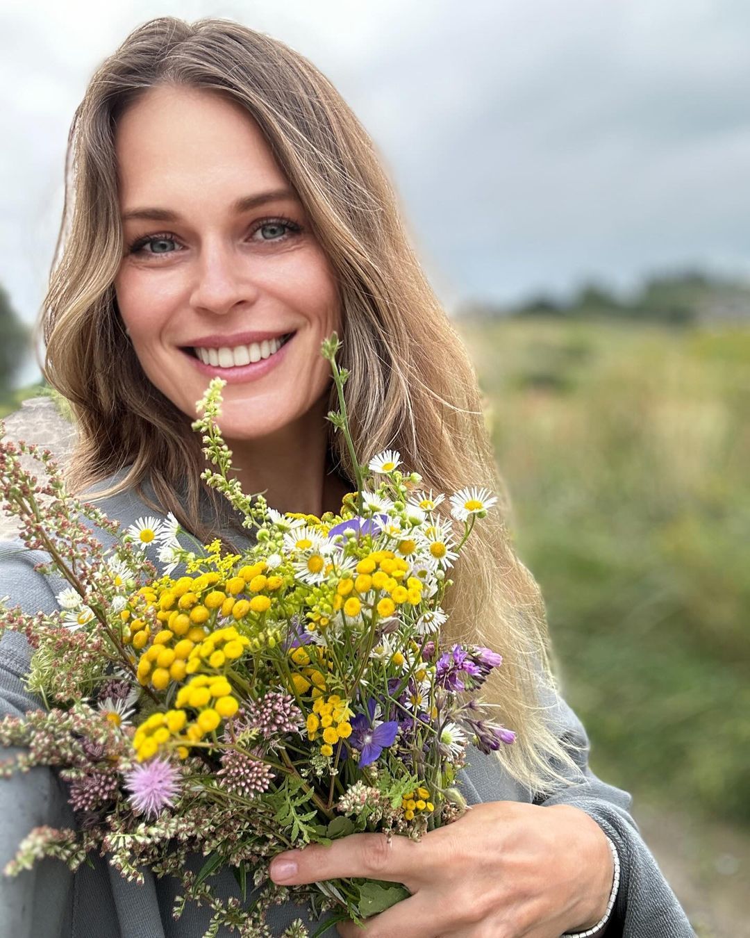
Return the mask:
M557 770L575 774L576 764L541 703L544 688L556 691L545 606L510 542L509 502L473 363L417 261L367 131L307 58L240 23L171 16L143 23L100 65L76 109L63 219L35 329L38 340L43 328L46 342L41 371L69 401L78 429L69 491L82 492L130 465L96 499L133 487L204 543L218 534L224 499L200 477L206 464L200 437L143 373L113 289L123 257L114 128L130 104L164 84L242 104L304 204L338 274L339 363L351 372L346 404L360 461L393 447L426 488L450 493L474 484L501 496L501 509L476 525L451 571L447 638L503 654L485 697L502 704L500 721L517 740L498 757L533 793L554 791L566 780ZM332 383L329 409L338 407L335 394ZM342 434L330 424L328 432L340 475L353 480ZM147 482L157 503L143 492ZM216 525L201 518L205 498Z

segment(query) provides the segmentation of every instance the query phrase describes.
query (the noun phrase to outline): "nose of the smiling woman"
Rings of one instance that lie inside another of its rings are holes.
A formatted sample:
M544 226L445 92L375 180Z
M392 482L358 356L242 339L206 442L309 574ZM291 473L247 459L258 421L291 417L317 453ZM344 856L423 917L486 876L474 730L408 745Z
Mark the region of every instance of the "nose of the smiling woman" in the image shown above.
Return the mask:
M194 270L190 305L195 310L223 315L237 304L252 304L258 298L258 285L247 263L233 244L219 235L203 241Z

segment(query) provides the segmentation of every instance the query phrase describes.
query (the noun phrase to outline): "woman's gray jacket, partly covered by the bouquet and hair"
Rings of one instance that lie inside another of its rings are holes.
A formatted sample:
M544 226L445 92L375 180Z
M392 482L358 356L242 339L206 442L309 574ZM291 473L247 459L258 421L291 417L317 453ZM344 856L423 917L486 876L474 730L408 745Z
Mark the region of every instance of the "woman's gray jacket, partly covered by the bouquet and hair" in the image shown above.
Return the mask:
M107 480L108 482L111 480ZM92 487L89 494L104 487ZM121 523L121 532L143 514L153 514L134 492L129 491L94 503L113 521ZM89 523L89 522L86 522ZM224 527L224 530L228 530ZM113 543L106 532L96 531L105 546ZM246 538L232 534L234 543L243 547ZM185 546L190 548L188 542ZM21 552L20 552L20 549ZM49 560L42 552L28 552L16 537L0 541L0 598L9 596L8 607L22 606L25 613L57 609L55 593L67 585L58 577L36 572L36 563ZM183 572L178 567L173 572ZM30 649L23 636L8 633L0 642L0 716L21 715L41 706L41 701L23 688L28 671ZM680 903L667 885L649 848L642 840L636 822L629 813L632 798L627 792L598 779L588 765L589 740L573 710L562 697L549 701L549 719L556 732L583 751L576 755L586 781L566 788L546 799L533 793L503 772L494 757L471 750L471 764L461 773L462 790L470 804L511 800L541 805L569 804L583 809L602 827L614 842L621 861L621 883L607 929L607 938L683 938L695 935ZM27 774L0 779L0 870L16 851L20 841L37 825L75 826L67 805L66 785L52 769L37 767ZM33 870L9 879L0 872L0 938L201 938L210 917L205 907L188 903L178 921L172 917L173 900L179 883L173 877L157 879L146 873L145 884L122 879L106 858L92 857L93 868L82 864L75 873L59 860L47 859ZM195 870L203 857L195 856ZM212 880L218 895L238 895L230 870L221 870ZM313 924L309 909L287 902L274 908L268 925L280 935L295 918ZM320 925L320 923L317 923ZM315 930L312 928L310 933ZM233 932L222 929L218 934ZM335 938L334 927L324 932Z

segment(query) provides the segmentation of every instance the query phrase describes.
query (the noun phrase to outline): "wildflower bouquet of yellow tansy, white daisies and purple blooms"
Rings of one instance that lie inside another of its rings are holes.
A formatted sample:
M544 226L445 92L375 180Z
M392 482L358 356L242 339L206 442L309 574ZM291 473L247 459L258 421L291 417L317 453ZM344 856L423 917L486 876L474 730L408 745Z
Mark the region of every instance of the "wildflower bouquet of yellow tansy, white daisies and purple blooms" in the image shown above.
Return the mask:
M418 840L461 813L454 783L469 745L489 752L514 741L476 696L502 657L441 642L446 573L496 498L463 489L447 518L437 511L443 493L421 491L398 452L360 465L338 348L335 333L323 342L340 404L328 419L346 438L357 491L337 515L281 514L245 495L228 477L232 453L215 419L225 382L212 380L197 402L203 417L192 428L218 467L202 477L255 535L242 554L194 538L201 550L188 550L172 514L121 534L65 492L49 450L0 442L4 508L23 520L27 548L49 552L69 583L51 614L0 601L0 631L26 635L27 687L47 706L0 720L0 744L22 748L2 774L57 766L77 821L37 827L6 874L44 856L75 870L98 851L128 880L143 882L144 868L178 877L173 915L188 901L207 904L207 935L220 925L270 934L264 916L285 900L359 922L406 888L362 879L283 887L268 877L271 858L354 831ZM22 453L43 463L47 486L23 470ZM84 518L115 537L113 549ZM186 573L175 579L180 564ZM205 857L200 869L191 855ZM240 899L212 887L225 867ZM285 933L308 932L298 920Z

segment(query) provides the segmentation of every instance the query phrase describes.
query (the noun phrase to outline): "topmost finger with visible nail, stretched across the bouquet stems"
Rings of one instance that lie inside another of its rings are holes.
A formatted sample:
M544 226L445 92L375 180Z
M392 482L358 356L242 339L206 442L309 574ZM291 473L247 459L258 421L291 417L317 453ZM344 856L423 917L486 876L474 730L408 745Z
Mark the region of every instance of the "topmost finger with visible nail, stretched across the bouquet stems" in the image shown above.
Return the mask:
M310 843L301 850L285 851L274 857L270 873L275 883L283 885L363 876L403 883L414 892L420 881L428 879L433 853L428 835L415 841L399 835L349 834L327 846Z

